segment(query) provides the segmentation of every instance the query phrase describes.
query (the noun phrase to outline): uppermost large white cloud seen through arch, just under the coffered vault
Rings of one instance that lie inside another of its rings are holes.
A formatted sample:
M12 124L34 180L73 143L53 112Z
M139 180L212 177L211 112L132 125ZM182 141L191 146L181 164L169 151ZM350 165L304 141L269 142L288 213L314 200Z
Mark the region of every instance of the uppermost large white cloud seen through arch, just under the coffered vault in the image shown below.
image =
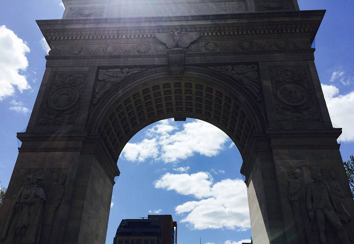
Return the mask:
M130 161L145 161L150 157L166 163L187 159L195 154L211 157L225 149L224 144L229 140L223 131L204 121L184 123L180 131L172 123L171 119L160 121L146 133L151 139L127 143L122 151L123 157ZM148 150L145 154L132 152L141 148Z

